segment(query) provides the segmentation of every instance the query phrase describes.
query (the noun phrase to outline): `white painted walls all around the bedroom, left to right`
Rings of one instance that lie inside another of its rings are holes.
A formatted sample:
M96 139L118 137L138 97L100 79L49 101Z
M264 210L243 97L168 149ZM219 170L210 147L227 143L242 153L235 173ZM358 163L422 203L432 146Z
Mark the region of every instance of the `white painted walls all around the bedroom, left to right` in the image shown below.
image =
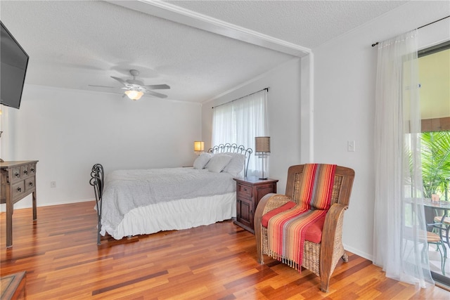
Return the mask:
M371 44L449 15L449 6L449 1L410 1L314 48L314 106L309 106L310 91L305 91L309 71L304 69L310 57L262 74L201 109L167 100L133 103L111 94L25 86L20 110L1 117L1 157L39 159L38 205L90 200L94 163L101 162L106 171L191 164L193 141L201 138L205 148L210 147L212 106L269 87L269 176L280 180L278 192L284 193L292 164L313 159L352 167L356 178L343 239L346 249L372 259L377 50ZM448 22L424 27L421 46L449 39L449 28ZM308 113L313 108L314 136L309 137ZM347 141L356 141L356 152L347 152ZM56 181L57 188L51 189L50 181ZM30 197L15 204L30 206Z

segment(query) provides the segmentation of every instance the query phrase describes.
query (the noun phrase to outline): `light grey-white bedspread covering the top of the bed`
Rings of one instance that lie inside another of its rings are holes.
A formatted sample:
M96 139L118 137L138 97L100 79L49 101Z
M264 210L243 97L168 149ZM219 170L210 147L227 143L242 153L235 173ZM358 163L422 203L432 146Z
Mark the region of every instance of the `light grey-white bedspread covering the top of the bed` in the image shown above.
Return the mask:
M207 169L165 168L113 171L105 178L102 197L104 228L117 228L131 209L159 202L232 193L228 173ZM102 226L102 227L103 227Z

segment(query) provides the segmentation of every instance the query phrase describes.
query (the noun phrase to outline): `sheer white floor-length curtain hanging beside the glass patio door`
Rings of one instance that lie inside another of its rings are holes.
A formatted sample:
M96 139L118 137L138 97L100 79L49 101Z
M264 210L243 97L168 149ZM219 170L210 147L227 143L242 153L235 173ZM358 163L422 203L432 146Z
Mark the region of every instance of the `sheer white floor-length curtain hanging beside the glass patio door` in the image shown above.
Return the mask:
M432 283L420 165L417 30L378 45L373 263L388 278ZM425 255L423 255L425 254Z

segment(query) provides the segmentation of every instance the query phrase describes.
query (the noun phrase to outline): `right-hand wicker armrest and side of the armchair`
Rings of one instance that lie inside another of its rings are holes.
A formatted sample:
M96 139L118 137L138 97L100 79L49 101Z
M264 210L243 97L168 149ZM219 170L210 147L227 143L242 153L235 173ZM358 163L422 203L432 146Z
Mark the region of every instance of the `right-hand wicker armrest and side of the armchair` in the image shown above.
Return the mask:
M335 203L328 209L326 214L321 241L321 276L328 276L333 272L330 269L334 256L333 252L335 251L336 241L342 238L342 220L344 218L344 211L347 208L347 205Z

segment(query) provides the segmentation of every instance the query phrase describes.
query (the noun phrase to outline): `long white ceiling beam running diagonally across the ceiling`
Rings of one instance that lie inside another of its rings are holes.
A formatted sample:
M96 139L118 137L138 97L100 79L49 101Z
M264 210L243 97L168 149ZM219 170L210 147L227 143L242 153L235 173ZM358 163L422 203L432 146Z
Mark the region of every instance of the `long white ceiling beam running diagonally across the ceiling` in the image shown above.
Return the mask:
M286 53L291 56L303 57L311 53L311 49L297 44L276 39L269 35L255 32L244 27L224 22L208 15L196 13L180 6L175 6L163 1L138 0L138 1L107 1L111 4L129 8L155 17L164 18L172 22L188 25L199 30L205 30L224 37L245 41L246 43L269 48L274 51Z

